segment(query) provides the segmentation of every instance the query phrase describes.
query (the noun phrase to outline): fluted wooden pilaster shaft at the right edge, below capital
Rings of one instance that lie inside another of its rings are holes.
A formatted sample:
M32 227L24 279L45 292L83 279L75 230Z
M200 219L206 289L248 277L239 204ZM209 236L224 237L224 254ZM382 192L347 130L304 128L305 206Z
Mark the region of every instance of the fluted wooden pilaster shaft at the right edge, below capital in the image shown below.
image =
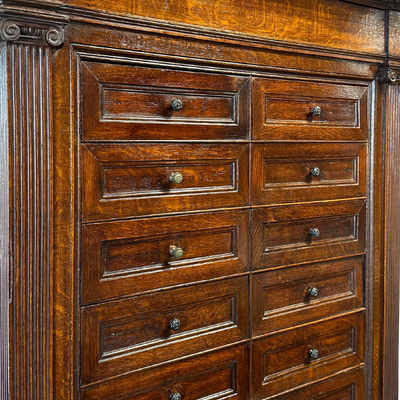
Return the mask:
M384 117L385 179L384 179L384 250L386 252L382 271L382 398L392 399L399 393L399 352L394 351L399 341L399 255L394 249L400 246L400 86L385 85L385 101L389 105ZM387 373L394 371L395 373Z

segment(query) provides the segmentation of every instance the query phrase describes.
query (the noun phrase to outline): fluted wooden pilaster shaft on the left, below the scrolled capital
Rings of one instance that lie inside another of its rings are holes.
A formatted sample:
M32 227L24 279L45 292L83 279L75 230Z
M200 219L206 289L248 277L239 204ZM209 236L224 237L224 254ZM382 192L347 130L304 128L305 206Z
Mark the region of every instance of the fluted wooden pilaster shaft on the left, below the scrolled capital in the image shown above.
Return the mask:
M48 46L9 48L11 393L50 398L53 364L52 125Z

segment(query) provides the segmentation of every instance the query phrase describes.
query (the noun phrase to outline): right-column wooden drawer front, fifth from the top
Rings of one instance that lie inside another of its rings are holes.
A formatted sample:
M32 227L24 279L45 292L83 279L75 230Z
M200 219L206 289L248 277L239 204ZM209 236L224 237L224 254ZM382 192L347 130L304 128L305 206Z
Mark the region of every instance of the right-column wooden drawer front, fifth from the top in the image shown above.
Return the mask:
M363 365L364 313L258 339L252 357L253 393L263 399Z

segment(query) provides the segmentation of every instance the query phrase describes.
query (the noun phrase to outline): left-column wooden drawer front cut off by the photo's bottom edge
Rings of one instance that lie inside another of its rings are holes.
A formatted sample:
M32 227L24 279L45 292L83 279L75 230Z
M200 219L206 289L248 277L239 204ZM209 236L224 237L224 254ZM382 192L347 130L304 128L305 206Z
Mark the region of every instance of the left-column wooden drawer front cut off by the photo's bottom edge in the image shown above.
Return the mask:
M248 348L241 344L81 389L82 400L248 398Z

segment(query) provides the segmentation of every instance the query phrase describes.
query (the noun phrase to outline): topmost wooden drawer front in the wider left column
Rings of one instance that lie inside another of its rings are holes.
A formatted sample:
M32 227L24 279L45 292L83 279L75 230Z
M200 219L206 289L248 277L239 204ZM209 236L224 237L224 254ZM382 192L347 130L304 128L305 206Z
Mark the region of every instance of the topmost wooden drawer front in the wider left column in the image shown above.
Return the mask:
M248 139L248 77L81 63L83 140Z

